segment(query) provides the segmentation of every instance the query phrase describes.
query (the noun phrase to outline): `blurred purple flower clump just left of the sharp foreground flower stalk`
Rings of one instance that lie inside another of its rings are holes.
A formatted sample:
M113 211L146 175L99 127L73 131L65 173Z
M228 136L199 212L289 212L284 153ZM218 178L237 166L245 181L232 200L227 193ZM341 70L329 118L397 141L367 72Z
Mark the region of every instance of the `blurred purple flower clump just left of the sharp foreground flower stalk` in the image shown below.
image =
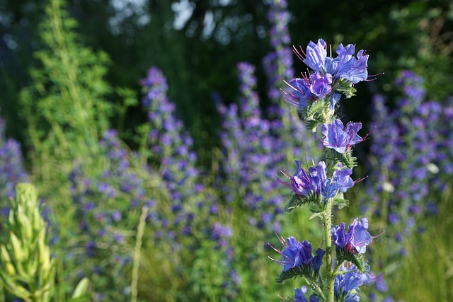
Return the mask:
M242 199L251 209L253 214L248 219L251 226L279 232L282 198L270 176L283 159L277 152L283 148L283 141L273 135L275 122L265 119L261 112L258 94L254 91L255 67L241 62L238 70L242 93L240 107L236 104L226 107L217 102L223 117L220 137L226 158L222 165L225 177L219 179L219 188L227 202ZM247 185L242 190L233 190L237 183ZM259 215L255 215L257 207L261 210Z

